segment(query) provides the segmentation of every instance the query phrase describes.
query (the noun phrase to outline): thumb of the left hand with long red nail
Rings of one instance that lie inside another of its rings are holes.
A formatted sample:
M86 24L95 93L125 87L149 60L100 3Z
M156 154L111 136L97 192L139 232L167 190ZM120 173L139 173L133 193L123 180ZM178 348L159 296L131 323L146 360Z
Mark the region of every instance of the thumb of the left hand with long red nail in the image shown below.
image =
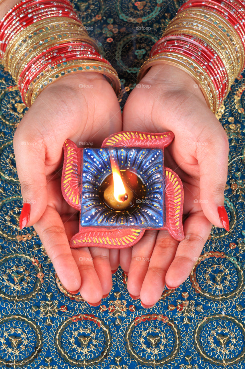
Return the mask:
M22 124L23 122L23 124ZM47 206L45 145L34 133L29 119L22 119L14 134L13 146L21 184L23 207L19 228L35 224Z

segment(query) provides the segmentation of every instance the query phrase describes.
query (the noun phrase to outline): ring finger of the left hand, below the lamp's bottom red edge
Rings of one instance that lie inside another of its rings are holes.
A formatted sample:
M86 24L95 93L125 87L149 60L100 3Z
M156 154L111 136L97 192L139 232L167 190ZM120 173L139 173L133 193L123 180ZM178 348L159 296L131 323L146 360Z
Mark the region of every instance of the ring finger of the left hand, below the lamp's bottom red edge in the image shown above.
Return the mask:
M109 250L104 247L90 247L89 251L93 258L93 266L100 280L103 297L106 297L112 287Z

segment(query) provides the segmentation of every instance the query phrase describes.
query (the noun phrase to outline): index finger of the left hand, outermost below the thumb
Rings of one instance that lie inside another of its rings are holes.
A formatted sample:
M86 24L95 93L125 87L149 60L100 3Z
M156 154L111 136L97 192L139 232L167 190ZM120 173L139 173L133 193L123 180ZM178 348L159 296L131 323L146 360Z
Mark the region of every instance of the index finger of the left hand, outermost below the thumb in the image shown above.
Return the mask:
M69 291L79 290L81 276L71 254L70 245L60 215L54 208L47 206L40 220L34 225L34 228L63 286Z

